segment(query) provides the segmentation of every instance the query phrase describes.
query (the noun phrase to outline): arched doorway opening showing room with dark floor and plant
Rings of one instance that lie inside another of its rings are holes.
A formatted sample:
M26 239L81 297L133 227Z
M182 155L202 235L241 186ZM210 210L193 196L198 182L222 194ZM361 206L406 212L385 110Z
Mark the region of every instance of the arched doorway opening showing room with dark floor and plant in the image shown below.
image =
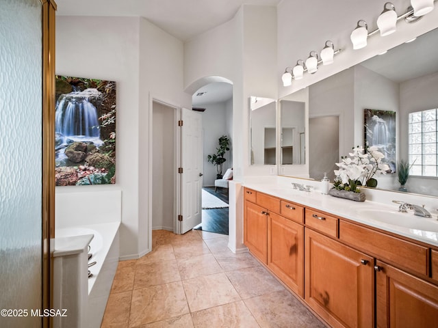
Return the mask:
M194 109L203 116L202 219L194 229L229 234L229 188L227 171L233 167L233 85L231 81L214 81L198 88L192 96ZM207 156L217 155L220 137L230 141L223 155L222 171ZM222 175L219 178L218 174ZM220 180L220 181L219 181Z

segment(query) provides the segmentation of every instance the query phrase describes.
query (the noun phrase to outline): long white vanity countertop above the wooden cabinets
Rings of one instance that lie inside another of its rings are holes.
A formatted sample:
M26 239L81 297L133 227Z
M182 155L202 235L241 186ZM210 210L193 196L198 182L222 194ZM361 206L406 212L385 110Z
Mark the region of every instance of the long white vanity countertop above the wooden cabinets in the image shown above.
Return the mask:
M379 203L365 200L365 202L355 202L352 200L344 200L342 198L333 197L331 195L322 195L320 191L312 190L311 192L299 191L293 189L292 186L285 186L283 184L275 184L272 182L245 182L244 187L254 189L269 195L273 195L290 202L296 202L303 206L322 210L339 217L350 219L359 223L366 224L368 226L393 232L400 236L405 236L416 241L422 241L430 245L438 246L438 217L435 213L432 214L432 218L420 217L413 215L413 210L409 210L408 213L400 213L403 215L404 221L412 220L412 227L415 227L415 223L420 223L417 220L426 220L421 223L427 223L432 226L433 231L420 230L417 228L407 228L406 226L396 226L393 224L385 223L381 220L373 219L372 215L364 215L368 210L382 210L391 211L396 213L398 211L398 204L394 203ZM398 215L397 213L395 215ZM430 224L429 224L430 223ZM436 229L435 229L436 225Z

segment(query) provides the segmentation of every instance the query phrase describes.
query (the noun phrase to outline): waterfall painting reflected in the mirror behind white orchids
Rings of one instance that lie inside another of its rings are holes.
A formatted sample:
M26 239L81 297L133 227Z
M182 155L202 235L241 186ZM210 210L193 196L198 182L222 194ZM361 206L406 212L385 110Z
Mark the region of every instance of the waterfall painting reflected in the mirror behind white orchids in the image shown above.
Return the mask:
M365 147L376 146L385 155L381 163L396 172L396 112L365 109Z

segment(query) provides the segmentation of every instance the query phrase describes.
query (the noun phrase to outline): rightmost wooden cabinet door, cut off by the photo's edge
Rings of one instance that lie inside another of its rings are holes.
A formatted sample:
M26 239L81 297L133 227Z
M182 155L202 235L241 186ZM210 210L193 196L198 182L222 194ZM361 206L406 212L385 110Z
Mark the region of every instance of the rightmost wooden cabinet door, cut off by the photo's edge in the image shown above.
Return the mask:
M438 286L376 264L377 327L438 327Z

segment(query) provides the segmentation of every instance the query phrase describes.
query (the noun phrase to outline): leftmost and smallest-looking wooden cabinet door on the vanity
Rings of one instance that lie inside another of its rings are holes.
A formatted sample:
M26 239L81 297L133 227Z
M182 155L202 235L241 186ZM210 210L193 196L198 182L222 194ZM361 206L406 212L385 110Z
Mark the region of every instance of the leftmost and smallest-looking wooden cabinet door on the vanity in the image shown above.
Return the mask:
M268 258L268 215L265 208L245 202L244 244L259 260L266 264Z

